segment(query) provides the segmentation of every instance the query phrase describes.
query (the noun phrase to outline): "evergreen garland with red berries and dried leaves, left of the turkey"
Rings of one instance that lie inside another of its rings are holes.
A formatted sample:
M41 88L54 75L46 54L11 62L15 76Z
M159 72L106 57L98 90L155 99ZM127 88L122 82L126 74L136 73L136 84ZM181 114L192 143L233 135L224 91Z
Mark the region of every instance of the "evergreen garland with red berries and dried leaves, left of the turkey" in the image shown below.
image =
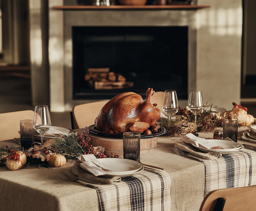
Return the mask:
M30 148L24 152L21 152L21 154L25 154L27 157L27 164L24 165L30 166L30 165L38 165L43 167L60 167L64 165L66 162L64 162L64 159L74 159L81 161L81 155L84 154L94 154L96 158L118 158L118 155L114 155L113 153L110 155L105 155L104 150L105 148L102 146L92 146L92 144L88 144L90 141L90 137L88 136L89 129L88 127L83 128L83 132L72 132L68 134L67 136L58 137L54 140L49 140L45 143L44 148ZM2 166L7 164L7 158L17 160L18 162L18 168L20 169L22 165L19 163L19 153L18 149L16 149L14 146L6 146L0 148L0 160L2 163ZM62 158L61 155L64 158ZM57 157L56 157L57 156ZM59 159L61 164L56 164L56 159ZM51 159L52 158L52 159ZM53 159L54 158L54 159ZM8 160L9 160L8 159ZM52 160L52 161L51 161ZM49 163L48 163L49 162ZM16 164L16 162L14 162ZM15 169L15 170L16 170Z

